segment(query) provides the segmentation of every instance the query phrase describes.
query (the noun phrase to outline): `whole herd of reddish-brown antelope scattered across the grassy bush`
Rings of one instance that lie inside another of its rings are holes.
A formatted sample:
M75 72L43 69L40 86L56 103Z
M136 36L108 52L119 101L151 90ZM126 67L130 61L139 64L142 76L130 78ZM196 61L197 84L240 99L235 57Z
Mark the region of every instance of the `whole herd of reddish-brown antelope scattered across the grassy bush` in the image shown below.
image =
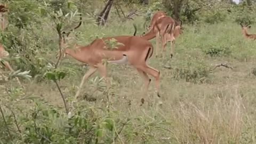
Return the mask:
M4 23L5 18L3 17L3 13L6 13L5 5L0 5L0 14L2 21L2 30L5 29ZM82 17L81 17L82 19ZM81 26L81 22L76 27ZM248 25L243 26L242 22L240 23L242 26L242 32L246 38L256 39L256 35L249 35L247 33L247 29L250 28L250 23ZM75 28L75 29L76 29ZM156 37L156 57L158 56L159 43L162 42L162 52L166 50L166 43L171 42L171 53L170 57L173 57L174 54L174 42L175 39L182 34L182 21L176 21L173 18L166 15L163 11L157 11L153 18L151 19L150 26L147 28L147 33L141 36L136 36L137 27L134 25L135 33L133 36L114 36L114 37L103 37L94 39L89 45L79 46L76 45L76 49L66 48L63 51L63 57L66 55L70 55L74 59L86 63L89 65L89 70L82 78L82 82L79 85L79 89L75 95L77 98L79 96L79 90L82 89L84 81L88 79L91 75L95 73L95 71L99 71L100 75L106 80L107 86L109 85L107 80L107 68L106 65L103 64L102 60L107 59L109 63L117 63L117 64L130 64L135 69L137 69L139 75L144 81L144 94L141 98L141 105L145 102L144 96L147 95L148 86L151 81L148 75L153 76L155 78L155 88L157 91L157 96L160 98L159 94L159 85L160 85L160 71L150 67L147 65L147 61L152 57L154 52L154 47L150 39ZM123 45L118 46L118 49L106 49L107 44L105 40L116 39L118 43L122 43ZM162 40L162 41L161 41ZM65 41L62 42L64 46ZM8 52L5 51L3 45L0 45L0 59L3 57L7 57L9 55ZM13 71L12 67L8 62L2 63L6 68ZM159 103L162 103L159 101Z

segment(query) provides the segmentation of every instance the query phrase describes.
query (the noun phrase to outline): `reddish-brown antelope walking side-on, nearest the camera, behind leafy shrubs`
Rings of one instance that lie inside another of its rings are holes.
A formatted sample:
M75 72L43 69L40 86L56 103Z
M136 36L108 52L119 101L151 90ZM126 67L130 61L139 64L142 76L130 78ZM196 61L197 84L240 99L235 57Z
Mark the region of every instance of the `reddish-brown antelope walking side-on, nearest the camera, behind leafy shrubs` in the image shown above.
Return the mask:
M117 46L117 49L106 49L107 44L105 41L109 39L116 39L118 43L122 45ZM66 54L70 55L74 59L87 63L90 66L89 71L83 76L82 82L79 85L79 89L75 95L77 98L79 90L81 90L84 81L89 78L95 71L99 71L103 78L107 78L107 68L103 65L102 60L107 59L110 63L124 64L129 63L137 69L138 73L144 79L145 90L144 94L147 94L148 86L151 79L148 75L155 78L157 95L159 95L159 71L147 65L147 60L153 54L153 45L146 39L139 36L115 36L97 38L87 46L78 46L78 49L65 49L63 57ZM107 81L107 79L106 79ZM141 105L145 102L144 98L141 98ZM159 101L162 103L161 101Z

